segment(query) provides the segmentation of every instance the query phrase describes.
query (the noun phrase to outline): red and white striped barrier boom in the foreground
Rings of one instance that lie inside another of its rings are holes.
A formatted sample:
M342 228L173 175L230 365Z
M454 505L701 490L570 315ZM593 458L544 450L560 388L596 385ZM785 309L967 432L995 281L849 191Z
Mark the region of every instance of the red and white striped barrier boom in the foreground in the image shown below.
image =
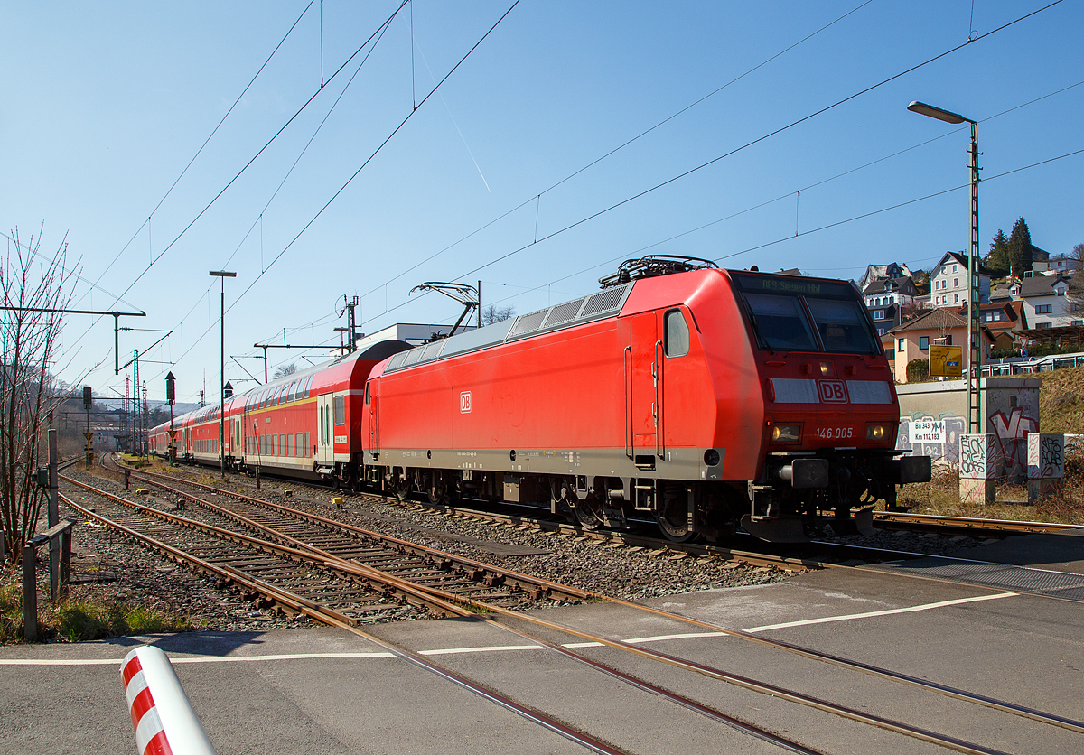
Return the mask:
M120 664L140 755L215 755L166 653L143 646Z

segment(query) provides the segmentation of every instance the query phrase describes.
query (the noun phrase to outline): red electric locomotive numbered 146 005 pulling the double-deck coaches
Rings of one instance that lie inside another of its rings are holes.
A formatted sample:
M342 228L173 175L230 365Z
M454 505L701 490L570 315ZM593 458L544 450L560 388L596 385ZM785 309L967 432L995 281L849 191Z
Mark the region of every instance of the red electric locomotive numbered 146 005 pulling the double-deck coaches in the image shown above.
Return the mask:
M900 407L848 283L629 261L603 290L435 341L373 369L364 479L431 499L547 506L668 537L895 500L930 479L894 451Z

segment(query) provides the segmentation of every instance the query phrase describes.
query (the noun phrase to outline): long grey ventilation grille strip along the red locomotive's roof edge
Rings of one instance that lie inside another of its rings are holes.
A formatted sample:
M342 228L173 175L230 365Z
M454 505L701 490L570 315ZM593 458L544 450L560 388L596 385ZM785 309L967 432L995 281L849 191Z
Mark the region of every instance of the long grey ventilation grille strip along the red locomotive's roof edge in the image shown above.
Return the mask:
M483 328L434 341L410 351L401 351L391 357L384 372L393 373L426 362L435 362L442 357L457 356L542 333L590 323L594 320L614 317L621 311L632 286L632 283L612 286L591 296L520 315L511 324L511 327L508 322L493 323Z

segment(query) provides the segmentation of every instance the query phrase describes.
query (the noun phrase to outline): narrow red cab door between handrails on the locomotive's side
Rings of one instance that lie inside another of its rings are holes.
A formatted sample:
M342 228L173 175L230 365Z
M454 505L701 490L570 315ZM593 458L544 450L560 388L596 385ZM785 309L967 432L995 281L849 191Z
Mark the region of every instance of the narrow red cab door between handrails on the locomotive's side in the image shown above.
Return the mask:
M624 349L625 455L636 464L655 466L661 413L658 404L659 361L657 314L650 312L629 318L629 344Z

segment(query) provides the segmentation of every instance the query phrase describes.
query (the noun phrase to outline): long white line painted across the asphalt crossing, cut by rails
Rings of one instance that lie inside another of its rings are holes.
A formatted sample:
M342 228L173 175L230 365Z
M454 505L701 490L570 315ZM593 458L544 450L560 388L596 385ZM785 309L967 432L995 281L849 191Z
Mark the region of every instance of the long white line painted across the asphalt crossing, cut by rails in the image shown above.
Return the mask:
M754 626L746 632L770 632L771 629L785 629L792 626L808 626L810 624L828 624L831 622L846 622L853 619L873 619L876 616L890 616L895 613L916 613L918 611L931 611L950 606L963 606L965 603L977 603L983 600L999 600L1001 598L1012 598L1019 593L998 593L996 595L982 595L973 598L958 598L956 600L942 600L937 603L922 603L909 608L894 608L885 611L869 611L867 613L848 613L840 616L824 616L822 619L805 619L797 622L785 622L783 624L765 624ZM653 635L650 637L636 637L624 640L629 643L645 642L667 642L679 639L701 639L706 637L725 637L722 632L695 632L680 635ZM565 648L602 648L602 642L568 642ZM441 648L438 650L422 650L418 655L453 655L461 653L492 653L522 650L542 650L541 645L494 645L477 648ZM302 661L307 659L346 659L346 658L392 658L388 652L371 653L289 653L282 655L197 655L194 658L169 659L170 663L248 663L251 661ZM120 663L120 659L0 659L0 666L115 666Z

